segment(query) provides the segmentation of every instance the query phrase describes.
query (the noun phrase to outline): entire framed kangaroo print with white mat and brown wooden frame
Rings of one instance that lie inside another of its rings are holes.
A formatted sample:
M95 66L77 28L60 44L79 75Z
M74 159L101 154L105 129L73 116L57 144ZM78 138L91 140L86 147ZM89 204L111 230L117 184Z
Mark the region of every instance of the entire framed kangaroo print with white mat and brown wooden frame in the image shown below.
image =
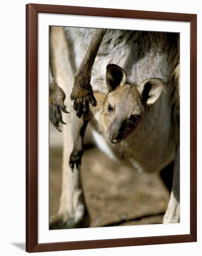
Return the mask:
M196 242L196 14L26 5L26 251Z

